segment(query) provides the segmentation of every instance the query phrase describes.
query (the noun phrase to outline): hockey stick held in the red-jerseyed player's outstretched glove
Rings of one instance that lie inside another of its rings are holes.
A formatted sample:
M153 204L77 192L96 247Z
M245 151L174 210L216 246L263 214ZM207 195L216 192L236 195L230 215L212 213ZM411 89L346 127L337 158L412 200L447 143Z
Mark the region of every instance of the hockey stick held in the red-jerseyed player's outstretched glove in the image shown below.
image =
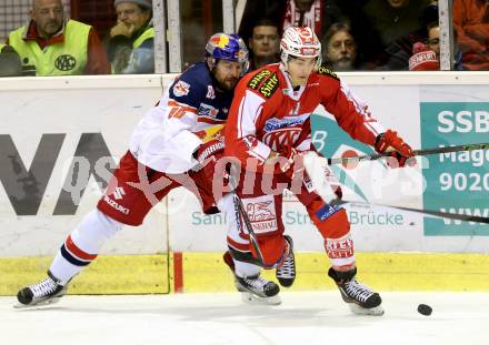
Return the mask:
M438 154L438 153L450 153L450 152L459 152L459 151L473 151L473 150L487 150L487 149L489 149L489 143L479 143L479 144L413 150L412 153L413 155L429 155L429 154ZM372 153L372 154L358 155L358 156L330 158L328 159L328 165L375 161L389 156L391 156L391 152Z

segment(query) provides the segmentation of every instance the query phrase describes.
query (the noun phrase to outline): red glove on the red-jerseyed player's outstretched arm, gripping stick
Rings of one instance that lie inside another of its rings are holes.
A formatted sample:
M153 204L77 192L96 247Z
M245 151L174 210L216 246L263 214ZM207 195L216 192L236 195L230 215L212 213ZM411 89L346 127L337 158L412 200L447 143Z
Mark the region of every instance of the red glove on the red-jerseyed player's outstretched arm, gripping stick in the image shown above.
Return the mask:
M406 160L413 156L412 149L397 134L397 132L388 130L376 139L376 151L379 153L391 152L391 156L396 161L387 161L389 168L405 166Z

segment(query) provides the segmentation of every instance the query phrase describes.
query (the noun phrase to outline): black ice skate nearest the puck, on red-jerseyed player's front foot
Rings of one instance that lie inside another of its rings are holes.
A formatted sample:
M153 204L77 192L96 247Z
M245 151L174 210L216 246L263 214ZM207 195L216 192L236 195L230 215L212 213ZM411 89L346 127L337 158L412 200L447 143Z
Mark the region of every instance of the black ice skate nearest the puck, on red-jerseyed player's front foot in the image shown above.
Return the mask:
M328 275L336 282L343 301L353 314L359 315L383 315L381 307L382 298L370 287L359 284L355 278L357 267L347 272L329 268Z

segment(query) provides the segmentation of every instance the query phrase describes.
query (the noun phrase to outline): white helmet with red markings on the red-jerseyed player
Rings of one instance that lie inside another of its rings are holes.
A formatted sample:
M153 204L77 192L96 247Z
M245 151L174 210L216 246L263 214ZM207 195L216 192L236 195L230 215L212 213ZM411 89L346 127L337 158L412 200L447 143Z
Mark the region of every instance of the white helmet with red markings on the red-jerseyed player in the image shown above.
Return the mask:
M316 65L321 65L321 42L309 27L290 27L280 41L280 59L287 68L289 58L317 58Z

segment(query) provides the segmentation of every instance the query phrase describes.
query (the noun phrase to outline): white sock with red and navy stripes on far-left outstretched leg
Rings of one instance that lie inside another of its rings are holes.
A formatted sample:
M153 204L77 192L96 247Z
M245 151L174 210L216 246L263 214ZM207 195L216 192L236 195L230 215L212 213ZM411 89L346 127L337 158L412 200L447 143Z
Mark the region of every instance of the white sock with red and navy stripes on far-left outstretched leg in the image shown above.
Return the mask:
M68 235L49 271L61 281L62 285L67 284L97 257L103 243L122 226L122 223L112 220L99 210L88 213Z

